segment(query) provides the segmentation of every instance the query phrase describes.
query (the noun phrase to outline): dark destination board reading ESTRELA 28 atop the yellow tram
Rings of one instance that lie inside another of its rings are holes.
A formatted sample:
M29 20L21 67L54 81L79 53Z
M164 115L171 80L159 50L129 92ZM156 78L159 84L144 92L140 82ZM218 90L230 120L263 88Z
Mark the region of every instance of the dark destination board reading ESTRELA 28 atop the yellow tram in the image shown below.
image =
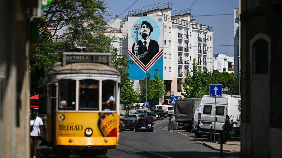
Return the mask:
M110 53L63 52L63 66L70 63L101 63L111 66Z

